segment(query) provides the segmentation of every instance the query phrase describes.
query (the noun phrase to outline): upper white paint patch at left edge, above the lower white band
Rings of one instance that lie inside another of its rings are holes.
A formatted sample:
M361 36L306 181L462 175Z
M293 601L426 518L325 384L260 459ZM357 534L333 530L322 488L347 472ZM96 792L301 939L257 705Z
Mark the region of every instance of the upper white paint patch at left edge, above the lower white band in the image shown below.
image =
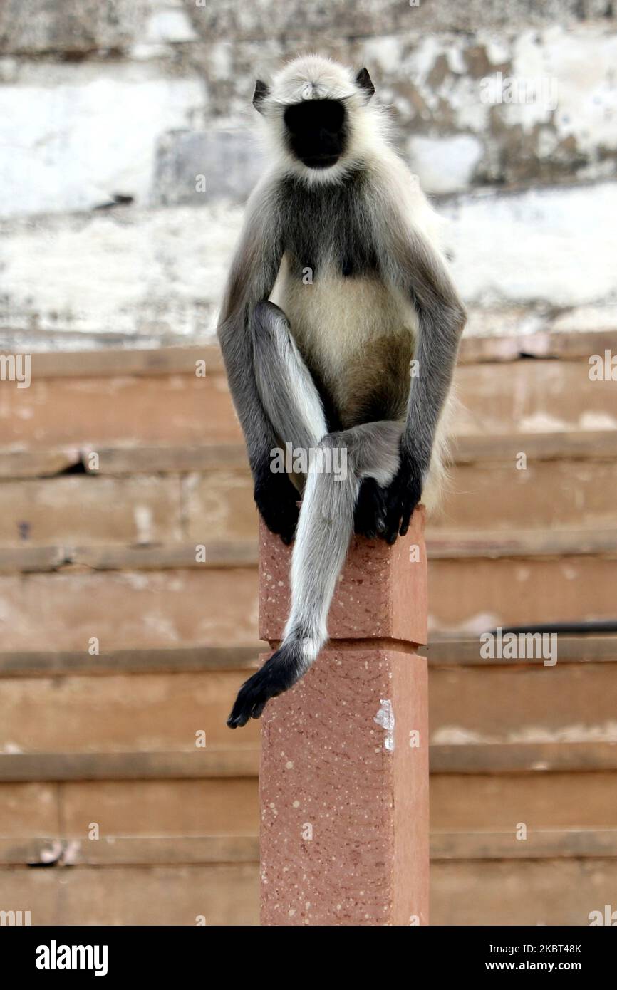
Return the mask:
M200 81L121 63L45 73L0 88L0 213L88 210L115 193L147 203L156 142L191 123Z

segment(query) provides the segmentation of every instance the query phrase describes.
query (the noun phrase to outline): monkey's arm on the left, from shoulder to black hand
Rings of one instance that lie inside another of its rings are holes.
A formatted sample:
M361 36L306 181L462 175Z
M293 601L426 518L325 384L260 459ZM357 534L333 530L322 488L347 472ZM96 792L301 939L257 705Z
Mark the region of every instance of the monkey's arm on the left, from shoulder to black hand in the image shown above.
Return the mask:
M268 529L286 543L293 538L298 518L298 494L286 474L270 470L270 450L277 446L255 376L252 315L267 299L276 280L282 247L268 209L267 190L252 196L240 244L232 262L221 308L218 337L234 400L247 442L255 481L255 499Z

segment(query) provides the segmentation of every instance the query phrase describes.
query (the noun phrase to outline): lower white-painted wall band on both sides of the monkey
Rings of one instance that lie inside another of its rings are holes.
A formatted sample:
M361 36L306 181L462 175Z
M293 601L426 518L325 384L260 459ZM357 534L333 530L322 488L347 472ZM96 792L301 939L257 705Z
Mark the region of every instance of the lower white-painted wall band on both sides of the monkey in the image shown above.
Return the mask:
M465 193L440 211L469 308L467 337L551 331L556 321L570 332L614 327L617 183ZM203 338L241 220L241 207L212 203L4 221L0 329ZM552 316L555 307L567 307L567 318ZM70 340L64 346L80 346Z

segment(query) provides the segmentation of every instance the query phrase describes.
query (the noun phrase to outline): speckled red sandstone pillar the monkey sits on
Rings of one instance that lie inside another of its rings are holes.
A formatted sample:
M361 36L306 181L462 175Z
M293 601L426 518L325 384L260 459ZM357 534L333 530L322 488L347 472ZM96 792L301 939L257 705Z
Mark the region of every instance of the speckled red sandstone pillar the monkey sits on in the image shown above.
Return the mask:
M423 530L421 507L395 545L354 541L329 644L265 709L262 925L429 923ZM289 558L261 525L259 636L272 648L288 613Z

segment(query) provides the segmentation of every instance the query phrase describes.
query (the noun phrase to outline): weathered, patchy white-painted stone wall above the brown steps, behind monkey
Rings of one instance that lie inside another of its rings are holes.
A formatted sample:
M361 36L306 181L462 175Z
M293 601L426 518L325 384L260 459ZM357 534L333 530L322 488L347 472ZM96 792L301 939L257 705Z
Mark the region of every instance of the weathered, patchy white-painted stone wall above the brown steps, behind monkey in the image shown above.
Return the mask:
M614 326L612 10L3 0L0 347L210 332L260 168L255 77L306 50L369 67L451 221L469 333Z

